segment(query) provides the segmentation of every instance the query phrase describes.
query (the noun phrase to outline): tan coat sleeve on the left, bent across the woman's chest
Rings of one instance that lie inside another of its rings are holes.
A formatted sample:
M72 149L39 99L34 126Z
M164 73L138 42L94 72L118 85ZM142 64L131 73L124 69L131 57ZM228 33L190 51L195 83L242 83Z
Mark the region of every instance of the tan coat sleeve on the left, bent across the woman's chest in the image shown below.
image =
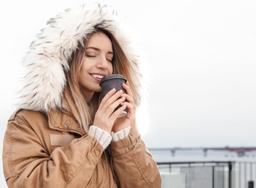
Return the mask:
M9 121L2 154L8 187L86 186L104 151L99 142L85 135L49 153L37 134L22 119Z

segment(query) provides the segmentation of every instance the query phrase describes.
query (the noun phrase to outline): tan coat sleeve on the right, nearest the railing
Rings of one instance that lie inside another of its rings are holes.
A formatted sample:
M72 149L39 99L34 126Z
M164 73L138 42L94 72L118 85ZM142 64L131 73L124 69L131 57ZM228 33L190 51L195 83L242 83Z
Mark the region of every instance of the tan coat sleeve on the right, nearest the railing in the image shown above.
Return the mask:
M161 187L160 171L141 138L129 134L110 145L112 168L120 187Z

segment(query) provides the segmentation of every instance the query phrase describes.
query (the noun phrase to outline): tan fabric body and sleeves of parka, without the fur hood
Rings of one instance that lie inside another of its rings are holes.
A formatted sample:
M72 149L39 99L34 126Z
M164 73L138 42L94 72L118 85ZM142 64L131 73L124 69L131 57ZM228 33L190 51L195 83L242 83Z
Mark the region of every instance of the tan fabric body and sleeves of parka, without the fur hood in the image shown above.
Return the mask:
M161 187L143 140L129 134L103 150L72 114L18 110L4 138L9 187ZM74 152L75 151L75 152Z

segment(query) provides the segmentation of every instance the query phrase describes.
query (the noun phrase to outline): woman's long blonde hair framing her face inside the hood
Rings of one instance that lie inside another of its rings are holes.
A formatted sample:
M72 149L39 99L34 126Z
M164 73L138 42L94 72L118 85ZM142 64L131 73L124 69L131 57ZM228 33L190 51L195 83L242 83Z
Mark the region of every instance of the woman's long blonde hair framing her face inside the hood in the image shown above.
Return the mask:
M120 44L118 43L115 36L105 28L96 28L94 33L102 32L110 38L113 48L113 74L123 74L126 80L129 81L131 92L133 93L134 101L139 100L139 93L136 90L135 83L133 83L132 75L133 69L131 67L131 62L128 61L127 57ZM91 33L92 34L92 33ZM69 65L70 69L65 71L67 78L67 87L65 87L65 101L67 101L70 111L77 119L80 126L82 126L86 132L88 132L88 127L93 124L94 115L99 108L99 103L102 100L101 93L94 93L93 98L89 103L86 100L80 90L79 77L80 69L82 67L82 59L84 56L84 47L90 38L90 35L84 40L84 44L78 44L76 51L73 52L71 56Z

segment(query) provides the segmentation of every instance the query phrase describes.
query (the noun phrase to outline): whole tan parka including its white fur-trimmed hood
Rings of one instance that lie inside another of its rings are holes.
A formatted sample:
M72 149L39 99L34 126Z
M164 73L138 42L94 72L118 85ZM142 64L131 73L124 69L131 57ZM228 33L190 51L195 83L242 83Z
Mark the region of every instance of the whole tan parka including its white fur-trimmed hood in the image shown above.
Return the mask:
M87 134L89 125L80 126L70 106L63 106L68 62L95 27L115 35L131 64L131 82L141 89L139 54L115 11L83 5L49 20L23 61L18 110L4 136L9 187L161 187L160 171L141 137L129 133L104 150ZM138 106L141 91L134 96Z

